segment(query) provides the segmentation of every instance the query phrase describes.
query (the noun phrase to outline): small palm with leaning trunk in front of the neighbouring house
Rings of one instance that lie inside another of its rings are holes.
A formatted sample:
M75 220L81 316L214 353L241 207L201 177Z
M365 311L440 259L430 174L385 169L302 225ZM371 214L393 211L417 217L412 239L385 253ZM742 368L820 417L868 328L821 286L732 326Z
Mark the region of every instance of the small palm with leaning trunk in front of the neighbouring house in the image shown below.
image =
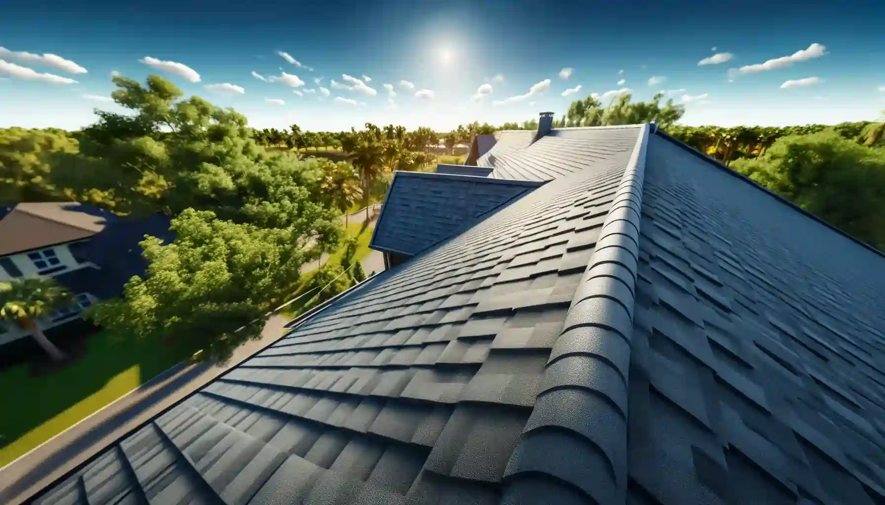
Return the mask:
M46 338L36 320L71 302L71 294L51 279L0 282L0 319L30 332L37 344L57 362L65 359L65 353Z

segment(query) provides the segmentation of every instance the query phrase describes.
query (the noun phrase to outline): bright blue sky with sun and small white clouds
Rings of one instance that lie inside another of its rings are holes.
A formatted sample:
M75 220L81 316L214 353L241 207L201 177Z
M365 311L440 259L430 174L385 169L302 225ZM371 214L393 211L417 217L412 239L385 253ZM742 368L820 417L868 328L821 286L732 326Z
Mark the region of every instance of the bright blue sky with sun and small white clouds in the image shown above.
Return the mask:
M689 125L836 123L885 109L881 0L142 4L4 5L0 127L86 126L96 107L116 108L113 71L158 73L252 126L310 130L500 124L624 88L635 99L666 90Z

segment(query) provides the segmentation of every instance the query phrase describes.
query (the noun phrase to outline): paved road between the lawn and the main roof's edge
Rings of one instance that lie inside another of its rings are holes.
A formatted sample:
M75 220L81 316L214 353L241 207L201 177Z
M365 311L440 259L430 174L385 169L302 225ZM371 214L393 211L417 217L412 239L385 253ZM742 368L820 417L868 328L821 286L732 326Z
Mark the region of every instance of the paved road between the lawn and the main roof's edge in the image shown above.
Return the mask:
M0 503L15 505L26 500L135 426L279 339L287 322L272 316L261 338L242 344L226 365L173 367L6 465L0 469Z

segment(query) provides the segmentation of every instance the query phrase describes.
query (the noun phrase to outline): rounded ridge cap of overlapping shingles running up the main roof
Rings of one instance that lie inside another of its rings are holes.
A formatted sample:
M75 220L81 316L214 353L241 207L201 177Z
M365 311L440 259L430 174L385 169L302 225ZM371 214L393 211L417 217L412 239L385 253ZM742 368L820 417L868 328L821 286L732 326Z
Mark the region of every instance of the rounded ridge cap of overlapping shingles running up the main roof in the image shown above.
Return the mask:
M539 474L550 493L581 489L600 505L626 499L627 376L651 127L645 125L636 139L596 249L550 351L535 407L504 471L502 503L532 501L526 494L530 488L520 482ZM604 428L589 430L588 418ZM596 433L606 437L595 440ZM551 466L549 458L537 457L551 443L580 460L583 468L565 462Z

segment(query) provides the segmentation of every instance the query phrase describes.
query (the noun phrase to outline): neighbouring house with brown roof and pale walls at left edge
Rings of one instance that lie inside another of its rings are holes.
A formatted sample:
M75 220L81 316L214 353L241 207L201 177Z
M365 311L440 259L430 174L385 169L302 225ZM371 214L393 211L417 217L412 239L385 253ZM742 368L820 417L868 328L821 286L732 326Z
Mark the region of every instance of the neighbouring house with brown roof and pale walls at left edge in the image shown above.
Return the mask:
M128 279L117 273L121 266L127 273L143 272L137 247L142 239L134 241L132 235L170 238L164 217L120 218L73 202L18 203L0 209L0 282L51 277L74 295L73 305L37 322L43 330L79 320L81 311L97 300L118 295ZM22 341L27 335L18 326L0 322L0 353L19 354L22 349L13 344L27 346L30 339Z

